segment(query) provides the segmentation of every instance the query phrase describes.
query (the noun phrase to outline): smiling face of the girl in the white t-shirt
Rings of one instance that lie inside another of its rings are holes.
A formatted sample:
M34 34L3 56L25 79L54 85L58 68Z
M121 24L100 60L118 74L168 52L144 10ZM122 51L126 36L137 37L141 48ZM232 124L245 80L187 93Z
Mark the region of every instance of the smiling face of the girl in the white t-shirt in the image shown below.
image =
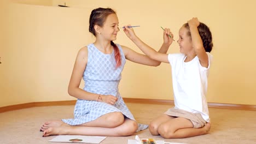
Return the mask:
M179 40L177 41L177 43L179 44L179 51L181 53L184 53L185 55L194 52L192 40L191 37L188 35L188 32L189 30L182 26L179 29Z

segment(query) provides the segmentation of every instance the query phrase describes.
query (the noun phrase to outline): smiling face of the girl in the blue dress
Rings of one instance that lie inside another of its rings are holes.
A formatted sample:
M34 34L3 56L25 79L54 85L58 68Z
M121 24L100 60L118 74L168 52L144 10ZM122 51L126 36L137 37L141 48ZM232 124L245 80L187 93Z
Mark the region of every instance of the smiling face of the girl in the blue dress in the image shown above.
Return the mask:
M103 26L100 28L101 35L107 40L116 40L117 33L119 32L118 24L119 22L116 14L108 15Z

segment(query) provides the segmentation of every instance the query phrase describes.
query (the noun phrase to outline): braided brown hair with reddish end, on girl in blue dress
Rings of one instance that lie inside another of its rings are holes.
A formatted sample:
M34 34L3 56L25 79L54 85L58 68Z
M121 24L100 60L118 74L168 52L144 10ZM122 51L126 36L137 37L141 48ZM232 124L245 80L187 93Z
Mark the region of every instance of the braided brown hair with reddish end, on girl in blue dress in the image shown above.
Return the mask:
M102 27L104 22L107 19L107 16L110 14L116 14L116 13L113 9L110 9L110 8L97 8L92 10L90 15L90 20L89 20L89 32L94 34L94 36L96 36L94 26L98 25ZM115 62L117 63L115 67L118 68L121 65L120 52L119 52L118 46L113 41L111 41L110 44L114 47Z

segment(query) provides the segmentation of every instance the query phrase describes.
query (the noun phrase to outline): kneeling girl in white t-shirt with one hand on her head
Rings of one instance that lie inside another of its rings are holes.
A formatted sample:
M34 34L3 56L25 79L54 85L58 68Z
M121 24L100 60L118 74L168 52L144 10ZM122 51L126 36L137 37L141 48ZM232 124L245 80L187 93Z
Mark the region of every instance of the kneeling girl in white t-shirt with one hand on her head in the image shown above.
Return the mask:
M124 32L139 49L150 58L170 63L172 67L175 106L150 123L150 133L165 139L207 134L211 127L205 97L213 47L210 29L193 17L179 29L181 53L165 54L143 43L128 26ZM164 37L170 46L173 41L170 29L165 28L165 35L170 36Z

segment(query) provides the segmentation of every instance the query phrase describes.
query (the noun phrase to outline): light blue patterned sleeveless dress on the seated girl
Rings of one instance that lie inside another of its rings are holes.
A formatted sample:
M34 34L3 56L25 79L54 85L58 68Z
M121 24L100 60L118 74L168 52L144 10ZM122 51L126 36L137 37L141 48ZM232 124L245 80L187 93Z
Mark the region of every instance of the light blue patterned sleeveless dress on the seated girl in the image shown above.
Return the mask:
M118 44L117 46L121 55L121 65L115 68L114 51L110 54L104 54L94 44L89 44L88 62L83 79L85 81L84 91L102 95L114 95L118 98L118 101L114 105L109 105L93 100L78 99L74 108L74 119L62 119L63 122L69 125L79 125L94 121L110 112L121 112L127 118L135 120L118 92L121 72L126 61L121 46ZM137 131L147 127L148 125L139 124Z

